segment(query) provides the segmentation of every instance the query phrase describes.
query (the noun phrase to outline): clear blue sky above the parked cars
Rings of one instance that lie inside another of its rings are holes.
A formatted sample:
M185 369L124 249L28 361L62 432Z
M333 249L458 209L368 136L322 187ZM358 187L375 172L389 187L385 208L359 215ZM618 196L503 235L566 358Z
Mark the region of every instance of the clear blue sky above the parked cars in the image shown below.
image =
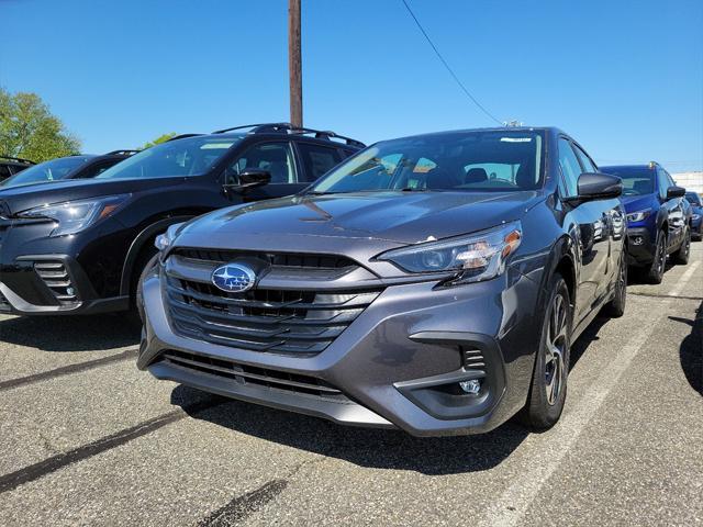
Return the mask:
M302 0L304 122L367 143L491 125L400 0ZM703 2L409 0L501 120L557 125L601 164L703 169ZM83 149L288 121L287 1L0 0L0 85Z

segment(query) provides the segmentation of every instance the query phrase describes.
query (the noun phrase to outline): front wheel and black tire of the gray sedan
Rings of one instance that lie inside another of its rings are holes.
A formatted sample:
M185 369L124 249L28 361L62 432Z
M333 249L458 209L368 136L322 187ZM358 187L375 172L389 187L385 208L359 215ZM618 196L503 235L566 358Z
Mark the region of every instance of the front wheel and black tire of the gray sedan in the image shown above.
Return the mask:
M549 282L547 306L527 403L518 414L525 426L536 430L559 421L567 396L573 313L569 289L558 273Z

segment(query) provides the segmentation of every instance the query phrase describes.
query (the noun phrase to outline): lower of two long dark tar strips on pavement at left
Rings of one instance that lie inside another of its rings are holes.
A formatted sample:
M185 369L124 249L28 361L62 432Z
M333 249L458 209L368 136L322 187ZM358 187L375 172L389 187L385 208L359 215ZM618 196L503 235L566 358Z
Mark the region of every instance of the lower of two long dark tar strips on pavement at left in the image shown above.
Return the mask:
M70 464L77 463L78 461L83 461L107 450L120 447L133 439L145 436L166 425L170 425L171 423L176 423L177 421L188 417L190 414L197 414L199 412L213 408L215 406L224 404L225 402L226 401L223 400L208 400L196 403L192 406L178 408L172 412L161 414L157 417L144 421L138 425L132 426L130 428L124 428L110 436L101 437L100 439L97 439L87 445L82 445L78 448L74 448L72 450L68 450L67 452L57 453L56 456L52 456L51 458L46 458L43 461L40 461L38 463L31 464L4 475L0 475L0 494L12 491L18 486L23 485L24 483L30 483L34 480L38 480L40 478L51 474L52 472L56 472L57 470Z

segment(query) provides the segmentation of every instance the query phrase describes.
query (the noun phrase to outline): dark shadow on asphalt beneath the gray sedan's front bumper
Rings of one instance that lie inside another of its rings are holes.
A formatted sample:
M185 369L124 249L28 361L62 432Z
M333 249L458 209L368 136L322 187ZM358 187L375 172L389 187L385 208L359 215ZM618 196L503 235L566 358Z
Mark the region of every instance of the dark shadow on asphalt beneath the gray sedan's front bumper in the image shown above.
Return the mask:
M197 390L177 386L171 403L186 412L201 399ZM412 470L427 475L492 469L525 439L513 423L480 436L417 438L401 430L336 425L322 418L228 401L190 414L241 434L373 468Z

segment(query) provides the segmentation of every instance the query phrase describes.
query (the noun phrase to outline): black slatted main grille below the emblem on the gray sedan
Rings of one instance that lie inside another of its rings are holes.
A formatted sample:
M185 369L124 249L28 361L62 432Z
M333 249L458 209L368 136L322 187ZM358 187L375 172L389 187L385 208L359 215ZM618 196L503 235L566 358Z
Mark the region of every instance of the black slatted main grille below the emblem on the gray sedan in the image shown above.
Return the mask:
M182 336L254 351L315 355L380 291L228 293L210 283L167 276L166 293L174 329Z

